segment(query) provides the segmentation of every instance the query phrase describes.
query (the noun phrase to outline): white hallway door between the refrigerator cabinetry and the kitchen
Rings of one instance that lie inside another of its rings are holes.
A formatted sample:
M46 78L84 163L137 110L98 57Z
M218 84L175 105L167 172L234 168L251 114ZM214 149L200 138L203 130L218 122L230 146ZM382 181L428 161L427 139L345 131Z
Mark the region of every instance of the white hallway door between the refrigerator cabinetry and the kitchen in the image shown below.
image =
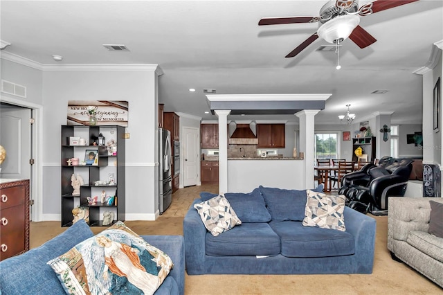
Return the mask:
M199 130L183 127L183 186L196 186L198 178Z

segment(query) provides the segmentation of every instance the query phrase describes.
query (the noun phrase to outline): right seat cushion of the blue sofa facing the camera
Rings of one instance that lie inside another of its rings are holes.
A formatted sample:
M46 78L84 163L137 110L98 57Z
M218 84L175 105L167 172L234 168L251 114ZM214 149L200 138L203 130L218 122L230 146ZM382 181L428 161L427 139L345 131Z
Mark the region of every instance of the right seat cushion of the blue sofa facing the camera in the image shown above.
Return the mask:
M346 231L303 226L302 222L293 221L271 221L269 226L280 237L283 256L328 257L355 253L354 236Z

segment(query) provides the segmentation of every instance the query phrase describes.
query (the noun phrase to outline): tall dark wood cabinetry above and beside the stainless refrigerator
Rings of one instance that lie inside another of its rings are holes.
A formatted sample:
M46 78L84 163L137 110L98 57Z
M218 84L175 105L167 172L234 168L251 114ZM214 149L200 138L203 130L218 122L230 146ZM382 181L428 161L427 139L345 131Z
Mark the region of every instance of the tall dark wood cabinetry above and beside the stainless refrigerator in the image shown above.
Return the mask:
M175 166L180 165L180 154L175 153L174 141L180 141L180 117L179 115L166 111L163 113L163 128L171 132L171 151L172 151L172 193L175 193L180 187L180 173L174 173ZM179 166L178 166L179 167Z

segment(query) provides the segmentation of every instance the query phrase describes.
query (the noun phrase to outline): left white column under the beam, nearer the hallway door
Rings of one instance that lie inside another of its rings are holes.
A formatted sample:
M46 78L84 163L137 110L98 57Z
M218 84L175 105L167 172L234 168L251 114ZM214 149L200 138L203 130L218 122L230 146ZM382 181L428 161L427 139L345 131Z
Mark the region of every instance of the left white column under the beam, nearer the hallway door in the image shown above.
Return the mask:
M230 110L216 110L219 117L219 194L228 192L228 114Z

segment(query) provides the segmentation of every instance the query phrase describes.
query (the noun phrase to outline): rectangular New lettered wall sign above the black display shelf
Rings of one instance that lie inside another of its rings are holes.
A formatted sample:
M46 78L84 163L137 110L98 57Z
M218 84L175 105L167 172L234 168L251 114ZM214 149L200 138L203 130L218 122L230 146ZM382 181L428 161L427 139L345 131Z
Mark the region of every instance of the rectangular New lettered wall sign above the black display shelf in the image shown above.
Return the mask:
M95 116L94 125L127 127L128 105L123 100L69 100L67 125L91 125L90 118Z

